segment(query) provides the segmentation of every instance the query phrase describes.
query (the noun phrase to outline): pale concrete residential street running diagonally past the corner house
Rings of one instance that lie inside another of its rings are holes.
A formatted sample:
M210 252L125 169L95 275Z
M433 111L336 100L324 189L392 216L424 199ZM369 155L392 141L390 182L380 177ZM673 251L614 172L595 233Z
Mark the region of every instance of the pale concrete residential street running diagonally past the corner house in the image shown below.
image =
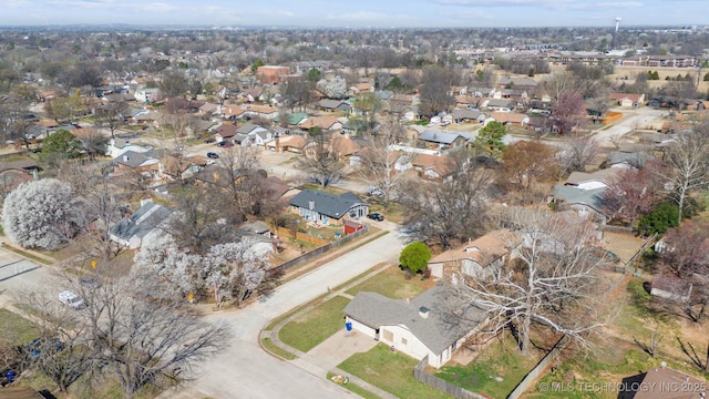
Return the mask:
M195 380L161 398L351 398L353 393L314 376L288 361L276 359L258 345L268 321L316 298L372 266L399 256L400 233L391 232L280 286L270 296L237 311L207 316L232 326L234 338L222 355L199 366Z

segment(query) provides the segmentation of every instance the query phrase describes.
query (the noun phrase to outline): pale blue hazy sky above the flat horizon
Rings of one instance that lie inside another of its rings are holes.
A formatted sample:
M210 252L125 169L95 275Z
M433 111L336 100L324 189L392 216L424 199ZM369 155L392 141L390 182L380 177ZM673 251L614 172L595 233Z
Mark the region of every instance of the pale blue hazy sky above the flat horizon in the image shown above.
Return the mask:
M0 0L0 25L708 25L707 0Z

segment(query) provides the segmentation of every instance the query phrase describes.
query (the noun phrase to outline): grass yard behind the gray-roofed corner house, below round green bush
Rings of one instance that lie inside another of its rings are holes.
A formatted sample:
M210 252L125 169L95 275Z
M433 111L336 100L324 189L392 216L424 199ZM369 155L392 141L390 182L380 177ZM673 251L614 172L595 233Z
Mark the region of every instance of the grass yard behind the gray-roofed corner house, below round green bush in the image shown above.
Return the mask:
M409 279L405 276L407 273L399 267L389 266L374 277L348 289L347 294L354 296L360 291L374 291L392 299L405 299L413 298L435 285L432 278L422 282L418 275Z

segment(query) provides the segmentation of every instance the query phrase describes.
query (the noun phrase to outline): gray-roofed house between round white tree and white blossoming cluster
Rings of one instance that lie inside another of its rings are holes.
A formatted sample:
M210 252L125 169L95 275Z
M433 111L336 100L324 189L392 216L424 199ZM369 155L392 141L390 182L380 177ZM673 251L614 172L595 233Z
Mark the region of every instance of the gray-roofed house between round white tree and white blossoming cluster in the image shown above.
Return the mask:
M165 234L164 228L174 212L152 200L143 201L135 213L125 216L109 229L109 238L129 249L137 249L146 242Z

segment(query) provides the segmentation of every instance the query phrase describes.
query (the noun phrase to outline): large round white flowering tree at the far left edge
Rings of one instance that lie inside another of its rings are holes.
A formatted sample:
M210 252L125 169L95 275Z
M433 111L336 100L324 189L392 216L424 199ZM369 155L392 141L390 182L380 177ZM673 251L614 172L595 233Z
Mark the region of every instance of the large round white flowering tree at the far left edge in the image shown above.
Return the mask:
M76 233L79 201L70 184L55 178L21 184L2 206L2 228L14 243L54 250Z

